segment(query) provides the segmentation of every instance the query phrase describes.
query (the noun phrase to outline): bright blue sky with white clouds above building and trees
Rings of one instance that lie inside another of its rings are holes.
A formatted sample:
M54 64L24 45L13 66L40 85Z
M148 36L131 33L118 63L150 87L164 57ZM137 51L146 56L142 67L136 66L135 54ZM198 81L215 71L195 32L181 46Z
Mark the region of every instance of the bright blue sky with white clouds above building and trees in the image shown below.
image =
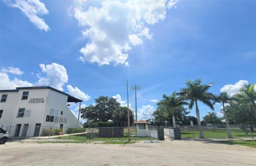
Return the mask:
M139 118L146 118L156 108L150 100L188 79L230 95L255 83L256 1L31 2L0 2L1 89L46 85L86 105L100 95L125 104L127 79L142 87ZM201 117L209 111L199 109Z

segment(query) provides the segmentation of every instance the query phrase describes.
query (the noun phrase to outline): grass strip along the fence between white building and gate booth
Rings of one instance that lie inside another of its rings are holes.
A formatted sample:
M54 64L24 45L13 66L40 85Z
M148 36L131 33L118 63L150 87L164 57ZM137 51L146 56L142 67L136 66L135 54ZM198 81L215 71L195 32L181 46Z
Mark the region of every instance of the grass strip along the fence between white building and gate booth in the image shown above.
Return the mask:
M93 139L88 139L87 134L77 134L77 135L68 135L68 136L60 136L60 139L73 139L73 140L79 140L79 141L104 141L104 140L119 140L119 141L126 141L128 140L128 136L122 136L122 137L94 137ZM56 139L59 139L56 138ZM150 140L150 137L130 137L131 140ZM151 138L152 140L155 138Z

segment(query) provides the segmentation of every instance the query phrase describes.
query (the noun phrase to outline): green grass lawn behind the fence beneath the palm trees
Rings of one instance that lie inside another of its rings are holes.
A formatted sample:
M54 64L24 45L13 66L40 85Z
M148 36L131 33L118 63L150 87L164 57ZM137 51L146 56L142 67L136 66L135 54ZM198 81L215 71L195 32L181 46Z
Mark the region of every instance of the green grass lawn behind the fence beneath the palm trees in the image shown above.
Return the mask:
M205 138L228 138L225 129L214 131L203 131ZM243 130L231 130L233 138L251 138L251 133L245 134ZM199 138L199 131L194 131L195 138ZM256 137L256 132L252 133ZM184 138L193 138L193 131L181 131L181 136Z

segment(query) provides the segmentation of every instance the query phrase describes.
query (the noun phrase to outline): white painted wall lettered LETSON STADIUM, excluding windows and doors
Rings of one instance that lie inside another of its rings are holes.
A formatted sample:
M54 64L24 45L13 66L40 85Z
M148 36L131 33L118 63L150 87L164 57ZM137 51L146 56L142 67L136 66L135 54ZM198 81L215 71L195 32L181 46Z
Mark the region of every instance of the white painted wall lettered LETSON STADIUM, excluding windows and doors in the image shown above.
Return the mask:
M24 91L29 91L27 100L22 100ZM0 118L0 125L3 125L7 130L11 126L9 129L10 136L15 135L17 124L22 126L20 127L19 136L22 135L25 128L23 128L24 124L29 125L27 136L33 136L36 124L41 124L39 135L41 135L43 129L59 128L60 124L63 124L64 130L69 127L82 127L68 108L68 96L65 94L51 89L20 89L17 92L1 92L0 97L2 97L2 94L8 94L8 97L5 103L0 103L0 109L4 110L2 118ZM43 102L34 102L37 99L41 99L40 101ZM29 116L17 117L19 108L25 108ZM62 115L61 111L63 111ZM54 118L58 117L56 118L58 121L46 122L47 115L52 115ZM60 118L62 122L59 121ZM65 118L67 122L65 122Z

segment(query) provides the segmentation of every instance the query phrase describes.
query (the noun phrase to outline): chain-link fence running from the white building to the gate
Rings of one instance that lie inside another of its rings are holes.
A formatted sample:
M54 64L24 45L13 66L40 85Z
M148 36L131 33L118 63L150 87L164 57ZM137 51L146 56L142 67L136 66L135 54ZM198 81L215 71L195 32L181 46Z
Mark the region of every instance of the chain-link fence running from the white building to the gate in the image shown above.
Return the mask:
M158 139L158 127L148 126L145 128L145 135L137 135L137 128L130 127L130 140L150 140ZM64 128L48 126L29 126L17 125L9 129L11 138L28 138L35 137L52 138L61 140L78 140L78 141L101 141L101 140L129 140L127 127L99 127L99 128Z

